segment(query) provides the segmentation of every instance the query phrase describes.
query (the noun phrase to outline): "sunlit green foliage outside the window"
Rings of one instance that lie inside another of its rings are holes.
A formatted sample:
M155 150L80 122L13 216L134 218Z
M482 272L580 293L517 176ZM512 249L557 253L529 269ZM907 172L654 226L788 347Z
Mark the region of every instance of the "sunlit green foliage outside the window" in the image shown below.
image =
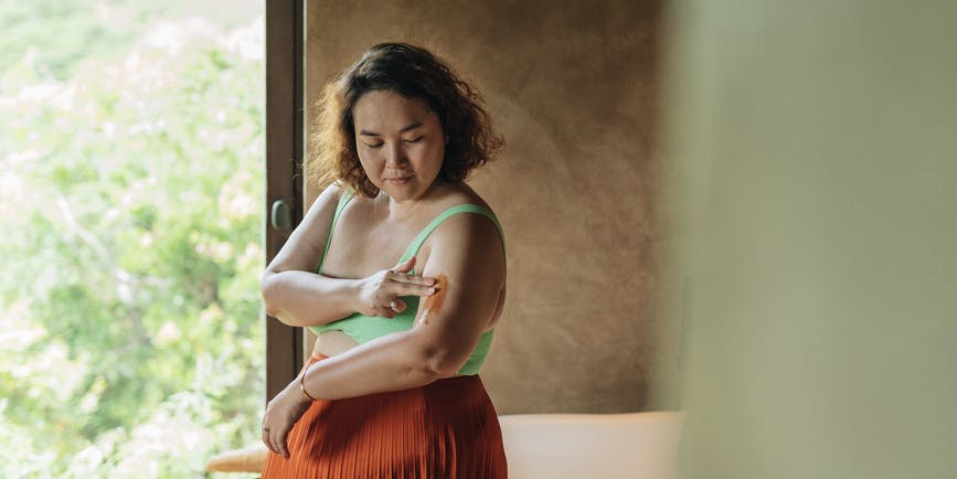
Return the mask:
M85 3L0 3L81 32L0 56L0 477L203 477L264 401L262 19Z

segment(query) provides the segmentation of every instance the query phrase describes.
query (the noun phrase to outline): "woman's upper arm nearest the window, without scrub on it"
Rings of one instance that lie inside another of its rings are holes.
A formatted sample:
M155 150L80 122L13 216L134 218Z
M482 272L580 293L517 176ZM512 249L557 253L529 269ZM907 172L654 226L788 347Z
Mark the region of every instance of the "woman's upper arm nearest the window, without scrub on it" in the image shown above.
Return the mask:
M341 193L341 188L336 184L322 191L266 267L266 275L289 270L316 272L326 249Z

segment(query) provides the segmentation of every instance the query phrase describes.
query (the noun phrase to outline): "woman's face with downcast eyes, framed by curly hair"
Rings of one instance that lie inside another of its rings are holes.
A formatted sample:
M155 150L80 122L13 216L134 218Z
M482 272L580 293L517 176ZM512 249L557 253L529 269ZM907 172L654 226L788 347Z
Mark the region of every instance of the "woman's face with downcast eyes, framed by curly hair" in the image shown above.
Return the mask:
M423 100L378 91L355 102L352 118L359 161L372 184L396 201L422 198L445 158L438 115Z

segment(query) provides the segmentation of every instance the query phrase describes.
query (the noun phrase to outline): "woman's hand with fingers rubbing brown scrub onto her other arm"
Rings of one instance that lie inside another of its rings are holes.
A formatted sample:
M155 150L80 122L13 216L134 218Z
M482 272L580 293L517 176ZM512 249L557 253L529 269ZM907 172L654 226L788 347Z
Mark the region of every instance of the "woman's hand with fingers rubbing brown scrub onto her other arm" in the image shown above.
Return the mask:
M394 318L405 311L405 301L400 296L430 296L435 294L435 279L408 275L415 267L415 256L392 269L383 269L365 279L359 288L359 305L355 309L365 316Z

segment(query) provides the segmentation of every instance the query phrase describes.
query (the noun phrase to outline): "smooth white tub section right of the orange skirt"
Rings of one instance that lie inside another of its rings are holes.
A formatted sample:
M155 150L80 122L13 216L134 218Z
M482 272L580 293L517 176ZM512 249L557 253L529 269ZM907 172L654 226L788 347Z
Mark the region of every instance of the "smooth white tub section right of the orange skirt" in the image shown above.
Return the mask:
M509 479L676 479L684 413L502 415Z

